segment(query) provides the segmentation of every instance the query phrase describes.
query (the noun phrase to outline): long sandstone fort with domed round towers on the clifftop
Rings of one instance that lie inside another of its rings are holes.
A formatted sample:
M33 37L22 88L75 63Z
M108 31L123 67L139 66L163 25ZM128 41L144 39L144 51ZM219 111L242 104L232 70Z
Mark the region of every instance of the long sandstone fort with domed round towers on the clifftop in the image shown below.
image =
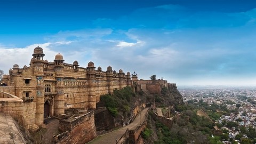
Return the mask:
M76 60L65 63L60 53L50 62L44 60L45 54L39 46L35 47L32 56L28 66L20 68L15 64L9 75L3 75L0 111L9 114L28 131L40 129L47 118L61 119L59 130L63 133L54 135L55 143L71 143L68 137L73 137L73 142L86 143L97 137L94 109L100 95L113 94L114 90L126 86L131 86L134 91L145 89L149 93L159 93L163 86L175 87L163 79L156 82L139 80L135 72L124 73L119 69L117 73L111 66L103 71L92 61L87 67L80 67ZM68 109L71 109L69 114Z

